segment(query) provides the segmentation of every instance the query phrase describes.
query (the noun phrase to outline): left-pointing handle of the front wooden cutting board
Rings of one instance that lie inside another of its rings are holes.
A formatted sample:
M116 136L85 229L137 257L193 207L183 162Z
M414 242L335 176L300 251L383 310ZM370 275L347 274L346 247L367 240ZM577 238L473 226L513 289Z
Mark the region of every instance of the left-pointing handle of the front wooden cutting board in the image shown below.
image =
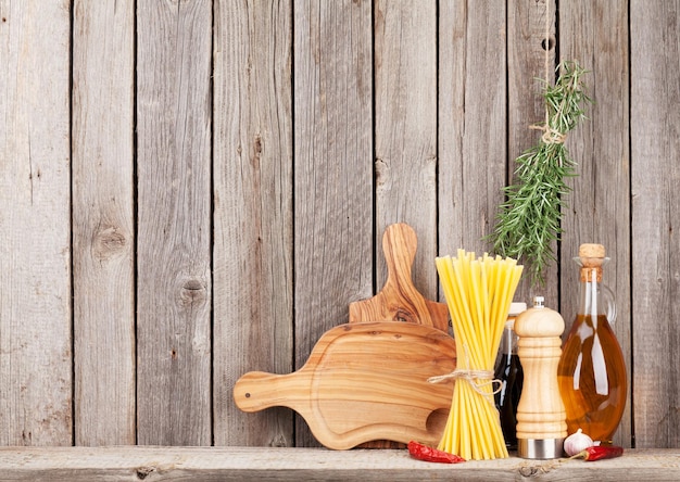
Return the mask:
M289 375L249 371L234 385L234 402L243 411L288 407L304 416L311 406L310 383L305 370Z

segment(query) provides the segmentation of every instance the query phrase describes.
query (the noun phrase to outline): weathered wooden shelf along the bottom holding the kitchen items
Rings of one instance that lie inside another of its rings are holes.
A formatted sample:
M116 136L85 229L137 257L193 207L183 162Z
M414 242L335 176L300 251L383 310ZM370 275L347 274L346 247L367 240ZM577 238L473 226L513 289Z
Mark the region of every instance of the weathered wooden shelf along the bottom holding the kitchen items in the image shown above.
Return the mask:
M40 481L677 481L680 449L629 449L616 459L428 464L405 449L259 447L1 447L0 480Z

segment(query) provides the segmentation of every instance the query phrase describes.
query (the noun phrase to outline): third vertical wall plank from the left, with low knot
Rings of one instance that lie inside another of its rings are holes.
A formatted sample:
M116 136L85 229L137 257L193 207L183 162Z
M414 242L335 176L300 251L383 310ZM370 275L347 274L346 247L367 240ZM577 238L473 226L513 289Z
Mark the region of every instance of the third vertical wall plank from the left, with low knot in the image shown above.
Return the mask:
M210 445L212 2L137 14L137 436Z

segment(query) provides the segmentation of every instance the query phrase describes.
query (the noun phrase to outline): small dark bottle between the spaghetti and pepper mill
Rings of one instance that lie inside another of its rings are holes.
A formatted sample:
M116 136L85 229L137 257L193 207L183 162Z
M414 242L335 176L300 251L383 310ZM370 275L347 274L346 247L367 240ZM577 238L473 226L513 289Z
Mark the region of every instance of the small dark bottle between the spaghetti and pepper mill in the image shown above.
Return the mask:
M501 416L501 429L508 451L517 449L517 404L519 404L524 382L524 371L517 355L515 318L525 309L527 309L526 303L511 305L493 377L501 382L500 390L495 394L495 407Z

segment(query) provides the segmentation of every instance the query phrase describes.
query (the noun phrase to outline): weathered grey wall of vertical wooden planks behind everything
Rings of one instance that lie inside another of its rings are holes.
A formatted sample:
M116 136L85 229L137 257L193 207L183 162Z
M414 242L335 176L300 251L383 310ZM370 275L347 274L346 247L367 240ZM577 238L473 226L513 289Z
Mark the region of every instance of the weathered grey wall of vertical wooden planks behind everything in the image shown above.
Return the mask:
M680 2L550 7L0 0L0 444L314 445L234 382L299 368L380 289L389 224L430 299L435 256L488 249L547 28L595 104L541 294L569 322L570 258L607 246L617 441L677 447Z

